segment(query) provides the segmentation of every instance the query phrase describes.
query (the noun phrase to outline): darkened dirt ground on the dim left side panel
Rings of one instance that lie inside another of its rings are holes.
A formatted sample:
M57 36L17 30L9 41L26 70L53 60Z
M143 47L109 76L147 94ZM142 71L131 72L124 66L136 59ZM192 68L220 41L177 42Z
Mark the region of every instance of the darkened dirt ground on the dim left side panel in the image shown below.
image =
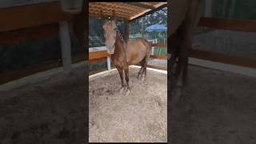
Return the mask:
M84 143L88 134L85 70L86 66L0 91L0 143Z

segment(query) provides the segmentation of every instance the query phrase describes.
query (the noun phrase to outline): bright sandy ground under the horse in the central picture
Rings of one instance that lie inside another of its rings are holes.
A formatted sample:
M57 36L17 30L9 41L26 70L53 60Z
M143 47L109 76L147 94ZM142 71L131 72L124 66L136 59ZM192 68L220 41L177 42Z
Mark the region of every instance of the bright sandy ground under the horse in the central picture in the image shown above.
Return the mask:
M167 74L130 68L130 94L117 70L90 78L89 142L167 142Z

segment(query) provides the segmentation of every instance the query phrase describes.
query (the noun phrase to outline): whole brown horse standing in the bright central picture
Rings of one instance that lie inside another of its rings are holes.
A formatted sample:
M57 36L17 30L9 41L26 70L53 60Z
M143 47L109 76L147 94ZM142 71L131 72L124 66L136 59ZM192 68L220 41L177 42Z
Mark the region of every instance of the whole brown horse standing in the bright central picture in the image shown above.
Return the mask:
M146 77L147 60L150 57L151 45L144 38L138 38L135 41L126 41L118 30L115 18L105 18L102 23L104 37L106 40L106 49L111 54L114 66L118 69L122 81L120 92L125 89L123 82L123 71L126 75L126 95L130 94L129 86L129 66L141 64L138 72L138 78L142 81Z

